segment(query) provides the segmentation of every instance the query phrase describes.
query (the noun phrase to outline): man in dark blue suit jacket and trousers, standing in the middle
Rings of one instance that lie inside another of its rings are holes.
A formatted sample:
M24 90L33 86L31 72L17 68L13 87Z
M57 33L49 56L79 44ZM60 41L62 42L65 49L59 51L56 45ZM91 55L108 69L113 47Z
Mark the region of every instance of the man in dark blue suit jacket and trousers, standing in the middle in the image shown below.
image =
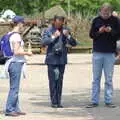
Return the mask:
M76 46L76 41L68 28L64 27L64 17L54 17L52 26L43 33L42 44L47 46L45 63L48 66L51 107L61 108L63 75L67 64L67 44Z

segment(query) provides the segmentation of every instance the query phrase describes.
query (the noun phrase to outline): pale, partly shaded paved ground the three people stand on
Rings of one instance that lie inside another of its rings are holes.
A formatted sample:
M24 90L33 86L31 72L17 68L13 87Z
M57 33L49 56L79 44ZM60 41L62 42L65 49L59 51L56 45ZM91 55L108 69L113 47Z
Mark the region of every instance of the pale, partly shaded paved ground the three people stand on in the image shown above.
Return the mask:
M116 108L104 106L104 77L101 80L100 105L85 108L91 99L92 64L91 54L69 54L63 85L64 108L51 108L49 99L45 55L27 57L27 79L21 80L20 107L27 115L4 116L9 90L9 81L0 79L0 120L119 120L120 119L120 68L115 65L114 96ZM0 68L1 69L1 68Z

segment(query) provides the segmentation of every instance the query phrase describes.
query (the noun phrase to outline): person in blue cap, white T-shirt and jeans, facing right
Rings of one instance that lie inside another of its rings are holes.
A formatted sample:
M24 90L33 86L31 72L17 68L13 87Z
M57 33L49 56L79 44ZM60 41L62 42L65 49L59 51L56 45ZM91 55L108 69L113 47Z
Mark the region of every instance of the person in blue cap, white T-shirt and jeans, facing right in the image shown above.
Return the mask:
M26 62L24 55L31 56L32 52L25 52L23 49L24 42L20 36L20 33L23 30L24 18L21 16L15 16L13 18L13 30L8 34L13 33L9 40L10 46L13 51L13 56L8 60L8 72L10 77L10 90L8 94L7 104L5 115L6 116L19 116L25 115L24 112L21 112L19 108L19 86L20 86L20 77L21 70Z

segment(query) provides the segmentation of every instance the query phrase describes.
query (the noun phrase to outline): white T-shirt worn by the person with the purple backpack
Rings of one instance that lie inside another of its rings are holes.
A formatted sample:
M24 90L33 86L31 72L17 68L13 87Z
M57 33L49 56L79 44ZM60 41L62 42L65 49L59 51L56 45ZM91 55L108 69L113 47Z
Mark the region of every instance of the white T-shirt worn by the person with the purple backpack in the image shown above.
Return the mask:
M9 32L8 34L11 34L11 32ZM13 44L16 41L20 43L21 47L24 46L24 41L21 39L21 36L19 33L13 33L10 36L9 41L10 41L10 46L11 46L12 51L13 51ZM24 55L13 55L12 59L13 59L12 60L13 62L25 62L26 61Z

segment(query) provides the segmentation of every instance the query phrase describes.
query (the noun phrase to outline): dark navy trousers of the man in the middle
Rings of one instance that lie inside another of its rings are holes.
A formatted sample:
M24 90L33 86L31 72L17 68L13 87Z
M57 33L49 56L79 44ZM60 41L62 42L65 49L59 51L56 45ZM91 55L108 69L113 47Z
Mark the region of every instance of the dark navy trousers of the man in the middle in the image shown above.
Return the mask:
M65 65L48 65L49 89L52 105L61 105Z

